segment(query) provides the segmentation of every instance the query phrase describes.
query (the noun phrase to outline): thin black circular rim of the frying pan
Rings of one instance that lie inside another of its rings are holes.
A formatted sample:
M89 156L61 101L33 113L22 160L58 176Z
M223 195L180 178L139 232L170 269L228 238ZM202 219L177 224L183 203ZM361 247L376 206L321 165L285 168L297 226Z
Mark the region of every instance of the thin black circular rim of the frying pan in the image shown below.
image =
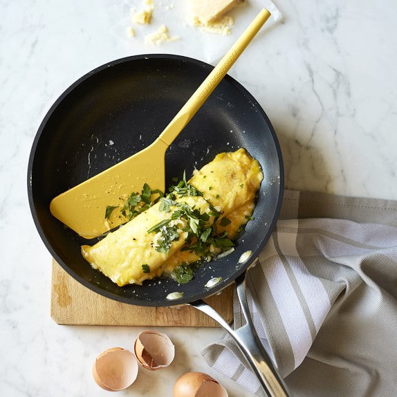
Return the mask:
M35 208L35 202L33 199L33 163L35 160L35 152L37 149L37 145L39 143L39 140L41 138L41 133L43 133L46 124L50 117L53 115L54 111L59 107L59 104L62 103L64 98L66 98L77 86L80 86L82 82L86 81L89 79L91 76L96 75L97 73L100 73L106 68L109 68L111 66L116 66L118 64L122 64L124 62L133 62L135 60L142 60L142 59L175 59L178 61L184 61L187 62L188 64L196 64L196 65L205 65L206 67L213 68L214 66L207 64L206 62L203 62L199 59L195 59L192 57L185 57L183 55L176 55L176 54L162 54L162 53L155 53L155 54L142 54L142 55L133 55L129 57L122 57L118 59L114 59L113 61L107 62L105 64L102 64L101 66L98 66L97 68L94 68L93 70L89 71L88 73L82 75L82 77L78 78L68 86L66 90L62 92L61 95L55 100L55 102L52 104L50 109L46 112L46 115L44 116L43 120L41 121L39 128L37 129L37 133L35 135L35 138L33 140L32 148L30 149L30 156L28 160L28 178L27 178L27 183L28 183L28 201L29 201L29 206L30 206L30 212L33 216L33 220L35 223L35 226L37 228L37 231L39 232L39 236L41 237L41 240L44 242L44 245L46 246L47 250L50 252L50 255L53 256L55 261L61 266L66 273L71 275L76 281L78 281L80 284L85 286L86 288L89 288L90 290L93 290L93 292L98 293L99 295L102 295L104 297L107 297L109 299L116 300L118 302L126 303L126 304L132 304L136 306L175 306L175 305L181 305L181 304L189 304L190 302L193 302L194 300L197 299L204 299L205 297L209 297L210 295L214 295L215 293L218 293L219 291L223 290L223 288L226 288L230 284L234 282L239 275L242 273L246 272L246 270L251 266L251 264L259 257L259 254L261 250L263 250L264 246L270 239L270 235L272 234L274 228L275 228L275 223L277 222L279 212L281 210L281 203L283 200L284 196L284 163L283 163L283 158L281 154L281 147L279 145L279 140L277 138L277 135L275 133L275 130L273 128L273 125L271 124L268 116L266 115L264 109L261 107L259 102L255 99L255 97L242 85L240 84L237 80L235 80L233 77L230 75L225 75L224 79L227 80L230 84L232 84L236 89L238 89L246 98L252 102L252 104L255 106L257 111L259 111L261 117L264 119L266 122L266 125L270 131L270 134L272 136L273 144L275 145L275 149L277 152L277 158L278 158L278 165L279 165L279 194L278 194L278 199L277 199L277 204L275 207L275 212L273 214L273 219L270 222L270 226L268 228L268 231L266 232L264 239L262 239L261 243L257 248L255 249L255 252L252 252L252 256L246 264L241 266L239 270L234 273L232 279L230 281L226 282L220 282L218 285L214 286L211 290L205 290L203 289L202 293L197 294L194 299L192 297L181 297L181 299L178 299L177 301L169 301L169 302L154 302L154 301L143 301L143 300L138 300L134 301L131 299L131 297L126 297L124 295L116 295L114 293L111 293L107 290L104 290L100 288L99 286L95 286L95 284L91 284L88 280L84 279L84 277L78 275L75 273L74 270L72 270L67 264L64 263L64 261L57 255L57 252L55 252L54 248L51 246L50 242L46 238L46 233L44 232L43 228L41 227L41 224L39 223L39 218L37 216L36 208ZM122 288L122 287L120 287Z

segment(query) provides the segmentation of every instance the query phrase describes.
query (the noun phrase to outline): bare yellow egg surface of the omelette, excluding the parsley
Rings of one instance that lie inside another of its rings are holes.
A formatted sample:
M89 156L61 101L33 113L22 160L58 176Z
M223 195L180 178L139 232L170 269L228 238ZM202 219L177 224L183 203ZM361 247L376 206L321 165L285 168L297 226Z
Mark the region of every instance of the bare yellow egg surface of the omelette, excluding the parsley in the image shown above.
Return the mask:
M254 210L255 195L262 179L259 163L245 149L221 153L196 171L189 181L203 196L179 197L176 203L186 203L201 214L212 214L211 207L214 207L222 213L216 221L217 232L227 231L228 238L235 239L237 230L247 223ZM183 263L198 261L201 258L196 253L181 250L188 238L183 230L187 221L183 218L171 221L178 230L178 239L172 241L167 252L156 250L158 233L148 230L160 221L171 219L171 216L172 211L162 211L160 203L156 203L94 246L82 246L82 255L93 268L99 269L118 286L142 284L146 279L171 273ZM207 224L212 225L215 219L209 216ZM230 220L228 225L221 225L223 217ZM211 248L214 255L220 251L219 248Z

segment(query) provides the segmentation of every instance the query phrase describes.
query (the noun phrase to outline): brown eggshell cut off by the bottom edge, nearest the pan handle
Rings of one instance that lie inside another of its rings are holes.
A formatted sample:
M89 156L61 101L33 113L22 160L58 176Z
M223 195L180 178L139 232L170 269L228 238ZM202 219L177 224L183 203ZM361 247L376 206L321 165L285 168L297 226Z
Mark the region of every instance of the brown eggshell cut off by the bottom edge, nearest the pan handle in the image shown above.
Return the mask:
M206 373L187 372L176 380L174 397L228 397L228 392Z

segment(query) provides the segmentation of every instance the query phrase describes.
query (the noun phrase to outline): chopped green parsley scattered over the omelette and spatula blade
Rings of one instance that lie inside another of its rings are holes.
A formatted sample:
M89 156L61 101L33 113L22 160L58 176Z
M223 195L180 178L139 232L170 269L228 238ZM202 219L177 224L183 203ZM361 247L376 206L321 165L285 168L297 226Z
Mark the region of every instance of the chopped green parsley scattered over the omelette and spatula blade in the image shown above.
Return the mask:
M166 195L160 190L151 190L149 185L145 183L140 194L136 192L129 196L124 206L121 207L121 214L131 220L159 202L158 210L167 213L167 219L163 219L163 221L156 223L156 225L147 230L148 233L157 234L151 246L158 252L167 253L172 242L179 240L181 232L186 232L187 234L181 251L194 252L199 257L207 259L214 255L214 248L219 248L221 252L230 250L234 243L228 238L228 232L219 233L216 228L216 225L223 227L229 225L231 223L230 219L225 216L221 217L223 213L217 210L207 199L205 201L209 210L203 213L194 205L190 206L187 203L176 201L176 199L181 197L203 196L196 187L187 183L185 172L183 172L181 181L178 181L178 178L172 178L172 182L174 185L169 187ZM208 187L208 190L212 190L212 186ZM154 195L157 196L152 199ZM219 199L219 194L216 194L216 199ZM107 219L109 219L115 208L117 207L107 207ZM218 222L219 219L220 221ZM246 219L253 218L252 216L246 216ZM243 230L243 228L239 228L240 230ZM215 252L219 253L219 250ZM199 264L199 261L192 264L183 262L183 264L174 269L172 275L179 284L185 284L193 279L194 271ZM148 264L142 265L142 273L150 273Z

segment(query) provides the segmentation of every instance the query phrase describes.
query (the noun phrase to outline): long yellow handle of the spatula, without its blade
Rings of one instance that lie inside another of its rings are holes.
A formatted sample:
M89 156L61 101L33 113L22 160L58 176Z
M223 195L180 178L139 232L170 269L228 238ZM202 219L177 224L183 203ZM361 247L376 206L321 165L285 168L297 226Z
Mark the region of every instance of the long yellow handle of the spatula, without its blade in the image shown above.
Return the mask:
M217 64L212 72L205 78L198 89L194 92L192 97L183 105L182 109L178 111L172 121L165 127L164 131L158 137L165 142L167 146L171 145L174 139L182 131L183 127L191 120L196 111L207 100L215 87L221 82L225 74L228 73L230 67L237 58L243 53L250 41L259 32L260 28L270 17L270 12L263 8L257 17L251 22L250 26L233 44L232 48L223 56L219 64Z

